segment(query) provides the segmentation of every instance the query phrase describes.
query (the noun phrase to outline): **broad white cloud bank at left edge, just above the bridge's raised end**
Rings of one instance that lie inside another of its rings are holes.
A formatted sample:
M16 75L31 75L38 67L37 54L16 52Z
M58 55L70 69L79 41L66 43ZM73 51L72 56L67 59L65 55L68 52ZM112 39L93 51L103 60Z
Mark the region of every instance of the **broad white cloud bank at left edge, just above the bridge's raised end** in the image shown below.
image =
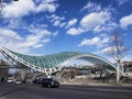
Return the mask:
M21 21L21 20L20 20ZM24 35L20 35L22 32L16 33L13 28L0 29L0 46L14 50L21 53L32 53L31 50L43 47L51 42L52 36L56 36L57 32L50 32L44 24L33 22L31 25L28 23L19 24L22 31L26 31ZM11 22L13 24L13 22ZM25 26L25 29L23 29ZM18 28L18 29L19 29ZM14 28L15 30L15 28Z

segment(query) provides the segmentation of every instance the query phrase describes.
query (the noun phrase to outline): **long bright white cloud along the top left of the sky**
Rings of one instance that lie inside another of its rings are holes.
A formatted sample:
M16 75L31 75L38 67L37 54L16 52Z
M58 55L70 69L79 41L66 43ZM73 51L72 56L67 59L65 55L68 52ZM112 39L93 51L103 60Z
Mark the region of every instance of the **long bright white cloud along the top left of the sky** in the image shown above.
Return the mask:
M9 3L3 9L4 18L22 18L31 12L55 12L58 4L54 2L55 0L40 0L34 2L34 0L19 0L18 2Z

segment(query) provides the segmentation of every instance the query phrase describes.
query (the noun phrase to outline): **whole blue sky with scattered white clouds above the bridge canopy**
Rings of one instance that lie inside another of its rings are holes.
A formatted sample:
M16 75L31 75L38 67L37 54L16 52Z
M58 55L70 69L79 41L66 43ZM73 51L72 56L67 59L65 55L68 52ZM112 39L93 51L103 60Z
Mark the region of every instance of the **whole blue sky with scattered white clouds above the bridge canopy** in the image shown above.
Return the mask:
M0 47L30 54L79 51L100 55L116 30L132 46L132 0L19 0L0 20ZM130 48L124 61L132 61Z

